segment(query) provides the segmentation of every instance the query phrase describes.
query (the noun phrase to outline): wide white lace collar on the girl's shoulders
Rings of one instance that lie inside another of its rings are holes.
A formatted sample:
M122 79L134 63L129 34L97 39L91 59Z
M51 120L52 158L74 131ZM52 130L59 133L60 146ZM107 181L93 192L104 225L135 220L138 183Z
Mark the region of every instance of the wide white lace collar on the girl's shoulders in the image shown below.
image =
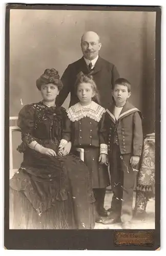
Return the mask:
M66 112L72 122L78 121L86 116L99 122L102 114L105 113L106 110L96 102L92 101L91 105L88 105L87 108L86 106L82 108L81 104L78 102L71 106Z

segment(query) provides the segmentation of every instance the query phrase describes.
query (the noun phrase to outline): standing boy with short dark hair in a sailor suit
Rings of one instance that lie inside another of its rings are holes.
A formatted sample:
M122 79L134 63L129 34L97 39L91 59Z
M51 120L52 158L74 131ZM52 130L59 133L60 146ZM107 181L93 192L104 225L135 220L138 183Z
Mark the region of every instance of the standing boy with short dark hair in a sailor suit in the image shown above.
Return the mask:
M122 228L131 228L135 170L142 152L141 113L127 100L131 84L124 78L115 81L113 104L107 109L106 129L113 198L110 216L104 224L119 222Z

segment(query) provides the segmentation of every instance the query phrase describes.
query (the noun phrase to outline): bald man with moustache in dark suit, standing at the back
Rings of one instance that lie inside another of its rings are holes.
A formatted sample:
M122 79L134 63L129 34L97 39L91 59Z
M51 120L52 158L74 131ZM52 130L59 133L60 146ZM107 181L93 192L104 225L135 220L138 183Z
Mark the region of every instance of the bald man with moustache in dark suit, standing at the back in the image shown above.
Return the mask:
M100 102L98 103L103 108L108 108L109 104L112 103L112 84L119 78L119 73L115 65L98 55L100 49L100 38L95 32L88 31L82 35L81 50L83 56L71 63L61 77L64 87L56 98L57 105L62 105L69 93L71 93L69 106L78 102L74 84L79 72L93 76L99 93Z

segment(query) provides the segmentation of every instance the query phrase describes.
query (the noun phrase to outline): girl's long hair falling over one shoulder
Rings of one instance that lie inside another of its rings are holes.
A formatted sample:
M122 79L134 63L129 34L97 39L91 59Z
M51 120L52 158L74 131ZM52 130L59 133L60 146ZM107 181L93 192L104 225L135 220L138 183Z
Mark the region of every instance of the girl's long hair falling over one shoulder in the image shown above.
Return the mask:
M93 76L92 75L85 75L83 72L79 72L77 74L77 79L75 82L75 93L77 93L77 88L79 86L80 83L90 83L94 92L94 97L92 98L95 102L97 102L98 104L100 104L100 99L99 99L99 93L96 87L96 83L93 80Z

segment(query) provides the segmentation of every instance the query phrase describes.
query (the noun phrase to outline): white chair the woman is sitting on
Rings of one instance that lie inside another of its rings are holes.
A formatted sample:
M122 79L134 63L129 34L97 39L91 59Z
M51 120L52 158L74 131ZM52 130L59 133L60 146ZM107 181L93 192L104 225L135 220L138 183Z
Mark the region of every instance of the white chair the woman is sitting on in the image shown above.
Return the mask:
M10 156L10 178L17 172L18 169L13 168L13 145L12 145L12 134L13 132L20 132L18 127L18 117L11 116L10 118L10 127L9 127L9 156ZM79 152L79 157L84 161L84 148L76 148L76 151Z

